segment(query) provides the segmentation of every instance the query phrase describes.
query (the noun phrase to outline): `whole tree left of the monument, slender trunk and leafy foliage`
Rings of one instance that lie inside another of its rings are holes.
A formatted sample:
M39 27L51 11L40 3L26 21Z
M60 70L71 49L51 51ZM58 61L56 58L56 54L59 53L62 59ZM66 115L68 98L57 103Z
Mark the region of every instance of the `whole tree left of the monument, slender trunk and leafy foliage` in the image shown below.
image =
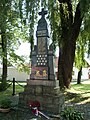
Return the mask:
M22 7L24 7L22 5ZM33 28L25 23L26 12L21 10L19 0L3 0L0 2L0 59L2 60L2 76L0 89L6 88L8 64L21 64L24 66L24 59L15 53L20 41L30 41L28 28ZM22 18L23 12L23 18ZM33 18L32 18L33 20ZM31 30L30 30L31 31ZM31 42L31 41L30 41Z

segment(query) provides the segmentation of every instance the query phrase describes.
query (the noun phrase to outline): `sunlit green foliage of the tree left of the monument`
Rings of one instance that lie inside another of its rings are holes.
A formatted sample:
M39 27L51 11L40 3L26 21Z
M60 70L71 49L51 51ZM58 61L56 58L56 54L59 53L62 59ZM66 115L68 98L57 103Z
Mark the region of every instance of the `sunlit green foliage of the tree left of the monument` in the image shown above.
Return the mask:
M0 30L4 31L7 41L7 56L10 64L23 59L15 54L22 41L29 41L29 28L20 19L19 1L2 1L0 13ZM1 34L3 36L3 34ZM3 57L1 50L1 58ZM12 60L13 59L13 60Z

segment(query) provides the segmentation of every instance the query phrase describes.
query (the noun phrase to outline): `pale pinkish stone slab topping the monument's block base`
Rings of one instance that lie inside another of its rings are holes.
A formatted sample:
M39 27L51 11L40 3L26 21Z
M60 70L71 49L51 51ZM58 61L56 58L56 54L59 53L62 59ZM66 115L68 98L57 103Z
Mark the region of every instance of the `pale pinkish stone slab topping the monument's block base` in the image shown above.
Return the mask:
M27 80L28 85L43 85L43 86L54 86L58 87L59 86L59 81L58 80Z

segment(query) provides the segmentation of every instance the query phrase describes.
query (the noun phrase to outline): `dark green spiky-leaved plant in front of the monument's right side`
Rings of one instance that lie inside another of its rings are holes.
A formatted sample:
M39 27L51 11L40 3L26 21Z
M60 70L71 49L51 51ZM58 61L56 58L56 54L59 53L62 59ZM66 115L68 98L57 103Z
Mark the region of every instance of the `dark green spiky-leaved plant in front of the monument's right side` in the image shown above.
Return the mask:
M61 111L61 117L63 120L84 120L83 114L73 108L65 108Z

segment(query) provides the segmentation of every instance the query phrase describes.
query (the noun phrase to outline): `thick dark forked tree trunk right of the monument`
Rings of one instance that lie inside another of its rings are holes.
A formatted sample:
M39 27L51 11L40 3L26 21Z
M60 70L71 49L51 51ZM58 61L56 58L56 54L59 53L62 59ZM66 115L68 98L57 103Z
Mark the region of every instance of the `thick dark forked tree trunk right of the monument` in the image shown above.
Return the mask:
M74 18L72 18L72 7L70 2L71 0L66 1L68 11L70 13L67 16L66 14L64 14L64 3L60 4L62 54L60 54L59 52L58 79L60 81L59 83L61 88L63 88L63 86L66 86L68 88L72 80L72 69L75 57L76 40L79 35L80 26L83 18L80 11L80 3L78 3L75 16Z

